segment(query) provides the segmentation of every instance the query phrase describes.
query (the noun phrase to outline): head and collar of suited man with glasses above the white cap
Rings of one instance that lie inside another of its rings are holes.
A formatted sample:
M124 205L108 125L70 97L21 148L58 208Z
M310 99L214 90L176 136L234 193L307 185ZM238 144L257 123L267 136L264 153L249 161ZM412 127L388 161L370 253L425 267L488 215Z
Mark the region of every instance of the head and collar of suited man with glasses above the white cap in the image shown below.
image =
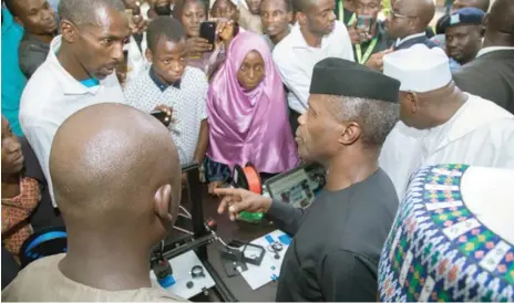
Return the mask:
M391 11L386 21L389 35L397 39L394 50L424 44L438 46L426 36L426 27L435 13L433 0L391 0Z

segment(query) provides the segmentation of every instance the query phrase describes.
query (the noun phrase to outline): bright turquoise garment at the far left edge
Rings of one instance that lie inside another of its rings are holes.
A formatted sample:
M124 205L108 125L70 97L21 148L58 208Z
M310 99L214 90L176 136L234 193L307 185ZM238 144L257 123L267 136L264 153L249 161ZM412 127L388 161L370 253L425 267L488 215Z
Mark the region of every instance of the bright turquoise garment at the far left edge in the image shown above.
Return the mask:
M21 93L27 84L27 77L20 70L18 46L23 38L23 28L14 22L9 10L2 7L2 115L9 121L12 132L23 136L20 122Z

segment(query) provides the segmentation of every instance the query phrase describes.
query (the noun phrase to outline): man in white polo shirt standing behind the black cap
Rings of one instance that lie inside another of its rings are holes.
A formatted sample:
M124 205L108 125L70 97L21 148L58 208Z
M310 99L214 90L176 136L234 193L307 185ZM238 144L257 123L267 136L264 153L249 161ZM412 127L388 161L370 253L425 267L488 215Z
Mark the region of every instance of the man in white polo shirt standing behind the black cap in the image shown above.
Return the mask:
M336 21L333 0L297 0L294 9L298 22L289 35L275 46L273 56L289 88L289 122L296 132L298 117L308 107L309 86L316 63L327 58L353 61L353 49L347 28Z

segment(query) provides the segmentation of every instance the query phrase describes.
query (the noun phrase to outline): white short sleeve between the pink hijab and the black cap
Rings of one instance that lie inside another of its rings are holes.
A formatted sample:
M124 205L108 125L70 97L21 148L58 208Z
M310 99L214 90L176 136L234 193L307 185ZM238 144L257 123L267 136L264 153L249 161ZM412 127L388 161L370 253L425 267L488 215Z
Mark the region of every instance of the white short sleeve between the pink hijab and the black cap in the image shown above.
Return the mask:
M294 63L295 58L292 52L282 54L280 49L275 48L273 59L284 84L286 84L289 91L291 91L305 108L307 108L311 79Z

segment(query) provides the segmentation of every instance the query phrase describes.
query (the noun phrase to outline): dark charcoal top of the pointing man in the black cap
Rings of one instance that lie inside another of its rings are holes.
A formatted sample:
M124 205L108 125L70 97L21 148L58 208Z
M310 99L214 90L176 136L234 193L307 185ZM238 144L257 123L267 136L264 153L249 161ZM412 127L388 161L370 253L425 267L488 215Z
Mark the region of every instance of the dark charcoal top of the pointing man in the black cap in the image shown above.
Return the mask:
M268 217L294 236L277 301L374 302L380 253L398 205L382 169L343 190L321 192L305 213L274 202Z

